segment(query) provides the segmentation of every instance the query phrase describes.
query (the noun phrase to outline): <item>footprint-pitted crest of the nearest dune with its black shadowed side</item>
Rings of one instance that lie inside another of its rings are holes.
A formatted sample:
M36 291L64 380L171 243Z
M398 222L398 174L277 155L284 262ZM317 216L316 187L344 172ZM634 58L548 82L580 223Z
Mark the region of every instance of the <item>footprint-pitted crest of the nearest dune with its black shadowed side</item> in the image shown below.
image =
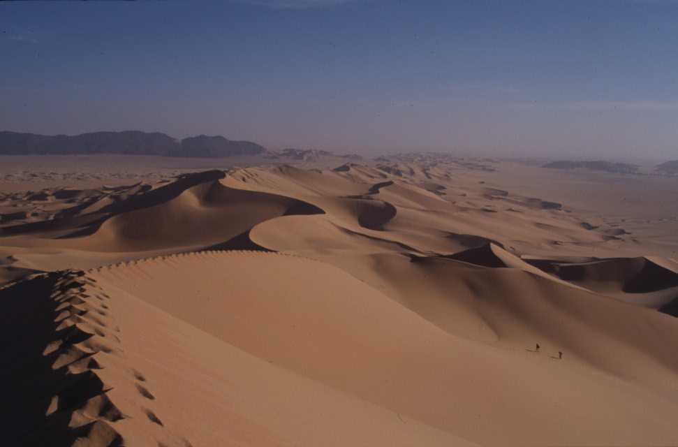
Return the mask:
M148 408L147 401L155 397L142 373L123 371L129 365L122 360L123 336L112 318L115 305L96 279L82 270L38 274L0 294L9 306L3 315L3 344L16 350L13 364L3 369L3 379L13 383L4 400L4 413L10 417L4 422L12 427L9 444L121 446L124 441L115 424L121 420L162 427ZM17 294L31 300L17 300ZM22 330L31 337L10 342L8 337ZM109 381L108 371L114 369L119 371ZM124 388L126 395L136 397L133 406L121 410L112 397ZM190 445L155 431L172 445Z

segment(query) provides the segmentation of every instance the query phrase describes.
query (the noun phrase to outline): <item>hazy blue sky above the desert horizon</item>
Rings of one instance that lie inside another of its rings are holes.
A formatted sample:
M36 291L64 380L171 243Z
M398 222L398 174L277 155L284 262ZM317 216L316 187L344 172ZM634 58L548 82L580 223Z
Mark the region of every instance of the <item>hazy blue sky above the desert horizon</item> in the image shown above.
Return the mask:
M678 0L0 2L0 130L678 159Z

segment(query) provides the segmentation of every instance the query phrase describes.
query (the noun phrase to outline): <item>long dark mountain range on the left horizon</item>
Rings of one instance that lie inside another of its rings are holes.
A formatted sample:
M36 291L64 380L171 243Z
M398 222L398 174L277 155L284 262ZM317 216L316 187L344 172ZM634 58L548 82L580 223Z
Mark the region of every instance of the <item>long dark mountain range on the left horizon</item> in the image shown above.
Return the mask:
M0 131L0 155L128 154L186 157L258 155L265 147L250 141L198 135L177 140L159 132L92 132L38 135Z

